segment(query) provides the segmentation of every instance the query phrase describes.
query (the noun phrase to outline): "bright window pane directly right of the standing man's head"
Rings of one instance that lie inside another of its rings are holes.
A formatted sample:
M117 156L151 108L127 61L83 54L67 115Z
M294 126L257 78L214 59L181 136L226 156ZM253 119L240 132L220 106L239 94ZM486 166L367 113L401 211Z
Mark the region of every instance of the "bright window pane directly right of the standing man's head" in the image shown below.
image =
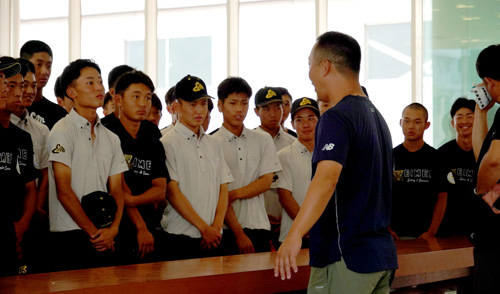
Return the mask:
M360 82L387 121L395 145L404 139L399 120L412 101L410 24L410 0L328 1L328 30L349 34L360 44ZM429 131L425 139L432 140Z

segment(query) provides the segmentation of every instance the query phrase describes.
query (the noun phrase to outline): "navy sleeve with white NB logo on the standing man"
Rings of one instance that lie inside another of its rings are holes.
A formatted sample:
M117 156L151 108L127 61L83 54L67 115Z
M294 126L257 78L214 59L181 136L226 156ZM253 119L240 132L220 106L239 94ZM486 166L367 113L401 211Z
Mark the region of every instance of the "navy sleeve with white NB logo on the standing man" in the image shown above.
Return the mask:
M345 165L351 140L348 118L330 109L321 117L316 127L316 142L312 163L332 160Z

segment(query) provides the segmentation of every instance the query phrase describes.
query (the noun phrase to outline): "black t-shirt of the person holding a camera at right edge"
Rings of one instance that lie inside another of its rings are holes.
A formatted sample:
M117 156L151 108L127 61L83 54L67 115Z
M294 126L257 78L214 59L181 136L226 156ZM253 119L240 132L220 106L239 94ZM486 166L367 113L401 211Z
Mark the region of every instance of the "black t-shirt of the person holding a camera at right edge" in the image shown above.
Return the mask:
M476 173L474 177L473 187L476 187L476 177L481 161L484 155L490 149L493 140L500 140L500 109L495 114L493 124L486 135L481 147L481 152L476 165ZM498 181L500 183L500 180ZM472 201L473 205L473 243L476 247L500 247L500 215L493 213L491 208L484 202L484 200L477 197Z

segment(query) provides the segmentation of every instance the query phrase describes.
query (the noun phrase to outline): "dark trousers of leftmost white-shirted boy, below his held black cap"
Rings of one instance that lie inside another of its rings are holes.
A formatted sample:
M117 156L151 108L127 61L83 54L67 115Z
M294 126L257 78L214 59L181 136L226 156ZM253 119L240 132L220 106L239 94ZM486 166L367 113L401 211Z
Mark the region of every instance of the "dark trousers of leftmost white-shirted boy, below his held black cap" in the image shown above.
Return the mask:
M51 233L51 271L75 270L117 264L114 252L98 252L82 230Z

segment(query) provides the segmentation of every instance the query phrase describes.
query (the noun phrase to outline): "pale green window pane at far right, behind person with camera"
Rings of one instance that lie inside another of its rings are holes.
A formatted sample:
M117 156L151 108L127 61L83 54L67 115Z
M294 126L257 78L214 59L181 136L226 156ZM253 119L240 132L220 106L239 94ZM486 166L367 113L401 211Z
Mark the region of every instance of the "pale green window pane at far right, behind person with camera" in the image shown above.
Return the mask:
M499 15L498 1L425 1L425 99L432 101L435 147L455 138L451 105L458 97L474 98L471 85L480 82L476 58L485 47L500 43Z

